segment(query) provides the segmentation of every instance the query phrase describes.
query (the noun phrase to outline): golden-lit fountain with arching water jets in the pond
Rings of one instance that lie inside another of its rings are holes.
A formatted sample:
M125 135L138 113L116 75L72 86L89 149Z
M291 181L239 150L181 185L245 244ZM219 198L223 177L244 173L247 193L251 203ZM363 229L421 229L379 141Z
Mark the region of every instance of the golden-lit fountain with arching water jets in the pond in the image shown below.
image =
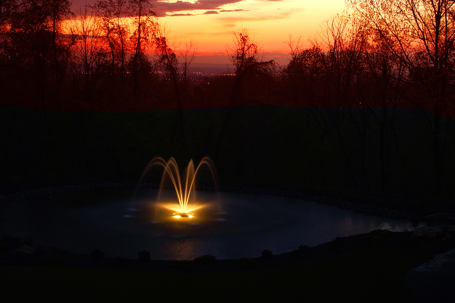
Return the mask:
M175 212L173 214L174 218L192 218L193 217L192 211L202 207L202 203L200 201L197 201L196 199L196 174L202 167L202 165L207 166L207 168L209 169L212 175L215 190L217 189L215 166L213 165L212 160L208 157L202 158L201 162L199 162L196 169L194 167L193 160L190 160L187 168L185 169L183 178L180 177L180 171L178 169L177 162L173 157L171 157L167 162L161 157L153 158L147 164L147 167L144 169L141 179L139 180L139 184L141 184L142 179L144 179L148 170L155 165L162 166L164 168L164 172L161 177L161 183L158 191L157 200L160 201L160 199L162 198L162 192L165 186L165 181L167 179L170 179L172 186L175 189L175 194L177 195L178 201L178 204L175 203L177 202L175 201L174 203L172 202L165 204L158 203L157 205L173 210Z

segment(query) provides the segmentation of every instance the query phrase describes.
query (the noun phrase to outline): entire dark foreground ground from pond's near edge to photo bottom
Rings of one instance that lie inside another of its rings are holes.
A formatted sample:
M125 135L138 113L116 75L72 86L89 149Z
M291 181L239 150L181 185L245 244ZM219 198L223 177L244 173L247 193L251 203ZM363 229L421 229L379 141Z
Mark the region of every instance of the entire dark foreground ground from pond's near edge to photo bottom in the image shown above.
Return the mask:
M454 238L454 232L412 238L412 232L376 230L269 258L197 263L95 260L56 248L12 256L7 252L25 241L33 246L33 240L3 237L0 298L1 302L453 302L453 271L445 268L430 276L409 271L435 253L454 248Z

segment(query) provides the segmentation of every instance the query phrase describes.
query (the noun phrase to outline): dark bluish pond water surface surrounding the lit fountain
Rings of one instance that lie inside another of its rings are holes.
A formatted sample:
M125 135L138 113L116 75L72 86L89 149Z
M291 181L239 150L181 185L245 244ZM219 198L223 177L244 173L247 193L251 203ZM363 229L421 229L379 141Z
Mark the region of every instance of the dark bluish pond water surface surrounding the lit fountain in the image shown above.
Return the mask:
M233 193L219 193L218 200L214 194L198 193L203 207L192 211L193 218L176 219L172 210L157 206L157 190L132 196L130 189L102 189L18 201L1 208L0 234L33 233L50 246L75 253L101 249L106 257L137 258L146 249L152 259L192 260L204 254L258 257L263 249L279 254L377 228L415 230L406 220Z

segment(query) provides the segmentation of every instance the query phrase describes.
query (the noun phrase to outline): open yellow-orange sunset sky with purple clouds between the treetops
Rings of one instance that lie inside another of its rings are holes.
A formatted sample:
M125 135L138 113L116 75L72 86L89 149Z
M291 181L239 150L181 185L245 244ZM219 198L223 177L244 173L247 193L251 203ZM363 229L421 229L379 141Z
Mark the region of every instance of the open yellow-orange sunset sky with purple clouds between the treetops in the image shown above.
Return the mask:
M79 2L80 1L80 2ZM94 3L93 0L89 1ZM321 21L341 13L344 0L198 0L151 1L169 31L169 40L197 40L197 63L228 63L226 44L242 25L263 46L268 58L288 62L289 34L313 36ZM86 1L73 1L73 8ZM308 43L307 43L308 44ZM182 47L181 47L182 49ZM178 53L178 50L177 50Z

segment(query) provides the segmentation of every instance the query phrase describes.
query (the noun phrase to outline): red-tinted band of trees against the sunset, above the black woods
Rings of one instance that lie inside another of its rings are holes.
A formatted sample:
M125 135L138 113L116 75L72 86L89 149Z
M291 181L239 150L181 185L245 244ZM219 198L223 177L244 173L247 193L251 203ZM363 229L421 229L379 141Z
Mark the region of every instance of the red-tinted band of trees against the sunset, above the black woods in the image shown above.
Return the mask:
M75 12L68 0L2 0L1 101L87 112L401 106L454 116L453 1L380 3L351 1L355 13L325 20L309 48L289 37L281 69L241 28L226 45L233 74L197 81L188 71L196 42L178 51L148 0L100 0Z

